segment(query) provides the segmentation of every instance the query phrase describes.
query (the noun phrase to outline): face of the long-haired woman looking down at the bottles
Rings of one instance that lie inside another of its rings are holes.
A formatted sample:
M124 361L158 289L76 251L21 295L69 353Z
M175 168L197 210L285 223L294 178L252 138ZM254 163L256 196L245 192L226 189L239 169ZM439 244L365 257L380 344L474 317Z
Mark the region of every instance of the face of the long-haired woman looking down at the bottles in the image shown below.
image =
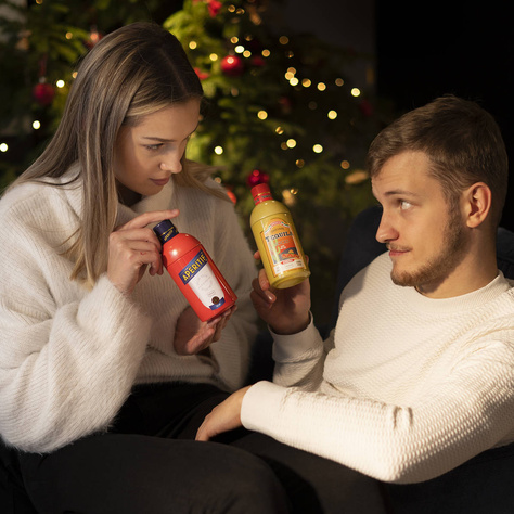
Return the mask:
M150 196L182 171L181 159L200 117L200 100L165 107L123 126L114 150L114 175L121 197ZM134 194L136 193L136 194Z

